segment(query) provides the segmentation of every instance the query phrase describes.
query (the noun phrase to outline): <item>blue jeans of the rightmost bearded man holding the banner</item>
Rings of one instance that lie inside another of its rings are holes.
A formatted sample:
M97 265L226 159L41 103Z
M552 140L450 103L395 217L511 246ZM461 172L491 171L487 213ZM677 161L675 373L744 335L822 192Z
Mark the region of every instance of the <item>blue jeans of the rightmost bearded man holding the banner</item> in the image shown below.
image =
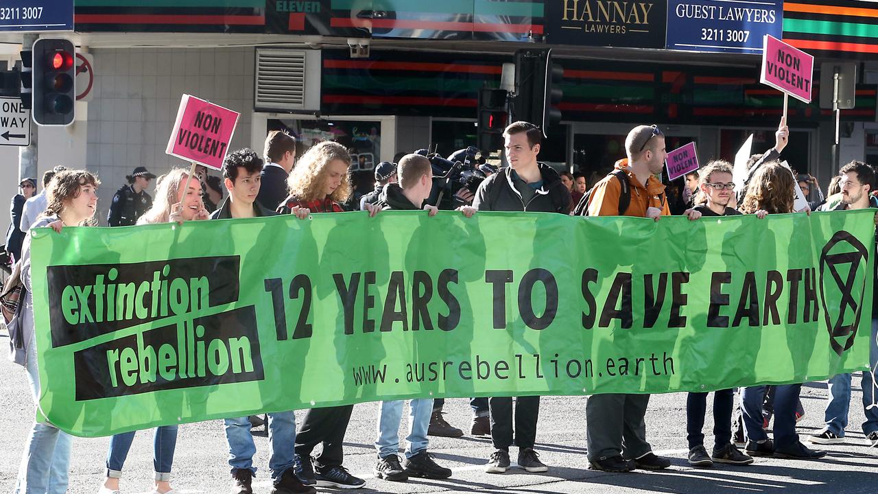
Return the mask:
M878 431L878 404L875 404L875 373L878 369L878 319L872 320L869 342L869 371L863 371L860 387L863 389L863 433ZM851 374L837 374L829 380L829 402L826 403L826 429L838 437L845 436L847 412L851 405Z

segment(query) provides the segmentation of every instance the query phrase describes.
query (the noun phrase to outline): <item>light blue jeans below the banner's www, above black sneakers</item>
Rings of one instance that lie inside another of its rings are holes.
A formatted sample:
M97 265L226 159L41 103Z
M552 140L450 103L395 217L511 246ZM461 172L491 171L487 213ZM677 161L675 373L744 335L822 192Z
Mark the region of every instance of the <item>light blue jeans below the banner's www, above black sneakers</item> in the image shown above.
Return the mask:
M399 451L399 420L402 418L402 400L381 402L381 416L378 418L378 439L375 447L378 456L384 458ZM418 398L408 403L408 447L406 458L411 458L427 450L427 428L433 412L432 398Z

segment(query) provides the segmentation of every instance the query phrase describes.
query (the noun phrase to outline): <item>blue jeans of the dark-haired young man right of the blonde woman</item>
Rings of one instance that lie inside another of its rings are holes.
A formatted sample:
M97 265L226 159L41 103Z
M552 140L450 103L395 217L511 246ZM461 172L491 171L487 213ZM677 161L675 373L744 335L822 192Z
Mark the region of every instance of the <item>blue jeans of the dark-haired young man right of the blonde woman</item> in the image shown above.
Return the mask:
M269 415L269 444L271 456L269 469L271 480L280 481L284 472L295 463L293 447L296 444L296 414L291 411L280 411ZM228 443L228 464L232 471L248 469L256 473L253 466L253 455L256 445L250 434L250 420L246 417L226 419L226 441Z

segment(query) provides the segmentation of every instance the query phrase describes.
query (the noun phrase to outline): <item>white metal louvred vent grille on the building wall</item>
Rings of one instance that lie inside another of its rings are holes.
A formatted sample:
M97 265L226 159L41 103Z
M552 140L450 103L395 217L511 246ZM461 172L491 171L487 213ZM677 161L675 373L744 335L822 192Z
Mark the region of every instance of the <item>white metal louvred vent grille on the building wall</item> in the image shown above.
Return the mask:
M314 66L317 73L308 76ZM277 48L256 49L255 108L264 111L319 110L320 52ZM316 84L316 105L313 89Z

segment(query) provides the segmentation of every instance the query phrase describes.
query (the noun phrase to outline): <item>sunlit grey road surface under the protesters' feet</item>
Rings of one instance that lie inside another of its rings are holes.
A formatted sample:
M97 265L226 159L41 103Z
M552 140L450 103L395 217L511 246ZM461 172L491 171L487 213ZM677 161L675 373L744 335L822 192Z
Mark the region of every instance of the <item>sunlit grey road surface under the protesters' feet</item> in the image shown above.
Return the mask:
M7 340L0 336L0 347ZM33 419L31 393L25 371L0 358L0 493L12 492L18 464ZM671 458L670 469L659 472L637 470L634 473L608 474L588 469L586 459L586 397L546 396L540 405L536 450L550 466L547 473L531 474L510 469L506 474L486 474L483 465L493 451L487 438L465 435L459 439L430 438L435 460L453 470L448 480L412 479L392 483L376 479L372 467L376 461L375 425L377 403L356 405L345 437L345 466L367 483L360 492L503 492L522 494L550 493L739 493L778 492L784 494L869 493L878 490L878 447L869 447L860 430L863 421L860 379L853 379L853 398L847 442L824 447L829 454L818 461L792 461L757 458L750 466L717 465L712 469L694 469L686 461L686 395L653 395L646 418L647 439L653 450ZM827 395L825 382L802 388L805 416L799 423L803 435L818 431L823 425ZM445 418L469 432L471 411L465 399L451 399L445 404ZM708 406L710 413L710 406ZM297 413L301 418L302 413ZM404 415L405 417L405 415ZM706 433L712 418L707 419ZM401 426L405 437L407 425ZM256 444L254 464L259 469L254 479L257 494L271 490L268 475L268 437L264 428L253 430ZM706 446L712 446L709 436ZM71 494L96 494L104 479L104 461L108 438L74 441L70 461ZM171 484L177 494L226 493L229 488L227 445L222 422L212 420L180 426L176 444ZM513 461L515 448L511 451ZM122 479L123 494L152 490L152 432L139 432L128 454ZM321 489L322 490L322 489ZM324 490L326 491L326 490Z

